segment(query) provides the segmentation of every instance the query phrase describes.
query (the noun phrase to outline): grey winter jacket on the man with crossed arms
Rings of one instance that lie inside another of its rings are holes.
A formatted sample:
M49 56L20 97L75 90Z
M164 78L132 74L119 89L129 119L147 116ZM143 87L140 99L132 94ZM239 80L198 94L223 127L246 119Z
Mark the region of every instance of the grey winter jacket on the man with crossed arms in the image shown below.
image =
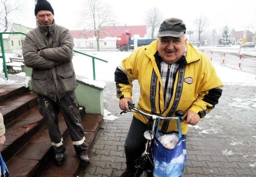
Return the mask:
M33 68L32 91L56 101L76 89L73 46L69 30L55 20L48 28L38 23L26 34L22 53L25 65Z

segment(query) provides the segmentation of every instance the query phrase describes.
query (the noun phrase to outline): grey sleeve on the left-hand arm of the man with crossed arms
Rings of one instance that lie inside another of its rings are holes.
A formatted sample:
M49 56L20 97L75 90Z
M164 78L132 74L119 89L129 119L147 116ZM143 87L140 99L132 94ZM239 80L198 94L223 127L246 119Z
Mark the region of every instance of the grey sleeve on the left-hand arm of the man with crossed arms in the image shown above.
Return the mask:
M37 54L38 48L33 42L32 33L28 32L22 44L22 54L24 58L24 64L29 68L36 68L36 69L50 69L54 68L57 64L54 61L47 60L46 58L39 56Z

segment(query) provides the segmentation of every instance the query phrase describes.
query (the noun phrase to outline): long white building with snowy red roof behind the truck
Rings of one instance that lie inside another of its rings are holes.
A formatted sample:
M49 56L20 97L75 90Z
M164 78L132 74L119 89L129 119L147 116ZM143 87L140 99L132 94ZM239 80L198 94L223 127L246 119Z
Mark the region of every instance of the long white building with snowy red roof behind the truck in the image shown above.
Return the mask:
M140 39L146 39L146 25L141 26L106 26L100 32L100 49L116 48L116 39L118 35L129 32L139 36ZM74 38L75 48L97 48L94 31L91 30L70 30Z

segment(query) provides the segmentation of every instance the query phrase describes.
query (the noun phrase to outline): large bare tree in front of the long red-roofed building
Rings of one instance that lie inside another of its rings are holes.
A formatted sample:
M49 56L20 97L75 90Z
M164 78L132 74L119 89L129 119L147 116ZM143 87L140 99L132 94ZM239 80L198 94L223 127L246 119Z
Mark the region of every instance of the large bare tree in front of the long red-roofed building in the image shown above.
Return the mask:
M114 26L115 20L110 7L101 0L84 0L85 9L82 12L82 22L88 26L88 30L94 32L97 42L97 51L100 51L100 33L105 26Z

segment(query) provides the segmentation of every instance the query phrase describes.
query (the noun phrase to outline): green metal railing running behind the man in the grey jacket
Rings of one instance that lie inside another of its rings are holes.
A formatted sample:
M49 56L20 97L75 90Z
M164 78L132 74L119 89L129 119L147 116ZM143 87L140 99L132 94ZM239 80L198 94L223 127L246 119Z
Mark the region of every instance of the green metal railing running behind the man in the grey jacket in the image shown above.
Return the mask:
M5 54L4 54L3 34L22 34L22 35L26 35L26 34L22 33L22 32L0 32L0 44L1 44L1 51L2 51L2 56L0 56L0 58L3 59L3 69L4 69L5 79L8 80L8 72L7 72L6 60L5 60ZM78 53L78 54L82 54L82 55L85 55L85 56L88 56L88 57L92 58L93 80L96 80L96 75L95 75L95 59L100 60L102 62L106 62L106 63L108 63L108 61L102 60L102 59L94 57L94 56L90 56L88 54L84 54L84 53L76 51L76 50L73 50L73 51Z

